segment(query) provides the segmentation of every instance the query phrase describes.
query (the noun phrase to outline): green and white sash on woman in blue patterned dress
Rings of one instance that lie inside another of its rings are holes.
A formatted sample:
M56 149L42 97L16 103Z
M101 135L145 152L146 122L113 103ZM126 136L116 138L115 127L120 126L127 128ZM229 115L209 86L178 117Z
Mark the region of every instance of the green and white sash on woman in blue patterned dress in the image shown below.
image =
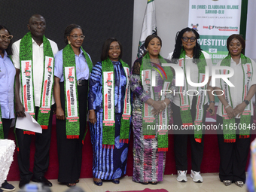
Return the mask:
M123 114L120 122L120 142L129 142L130 133L130 117L131 117L131 102L130 102L130 68L119 60L126 74L126 92L123 100ZM102 127L102 147L114 148L114 132L115 132L115 117L114 117L114 65L111 60L105 59L102 61L102 98L103 98L103 127Z

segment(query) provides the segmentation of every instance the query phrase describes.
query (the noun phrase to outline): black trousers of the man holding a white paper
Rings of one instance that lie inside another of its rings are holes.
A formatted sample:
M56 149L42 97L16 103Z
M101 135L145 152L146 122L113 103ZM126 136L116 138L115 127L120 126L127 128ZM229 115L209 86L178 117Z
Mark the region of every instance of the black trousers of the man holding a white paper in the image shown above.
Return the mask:
M39 107L35 107L35 120L38 118ZM50 118L47 130L42 130L42 133L35 133L35 160L33 173L35 178L44 176L49 166L49 151L50 151L50 136L53 120L53 107L50 110ZM21 179L32 178L33 173L29 171L30 145L32 135L23 134L23 130L15 130L17 142L19 145L18 164L20 169Z

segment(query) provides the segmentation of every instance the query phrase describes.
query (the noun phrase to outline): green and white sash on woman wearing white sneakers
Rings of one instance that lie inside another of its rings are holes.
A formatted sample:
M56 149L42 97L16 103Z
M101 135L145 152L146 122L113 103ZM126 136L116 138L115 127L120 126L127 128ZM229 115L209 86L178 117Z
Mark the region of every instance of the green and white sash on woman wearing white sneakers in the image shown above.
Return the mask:
M186 52L183 50L180 55L180 59L178 61L178 65L184 71L184 87L179 87L179 98L180 98L180 113L181 120L183 126L192 126L193 120L190 113L190 99L187 94L187 75L186 75L186 67L185 67L185 56ZM203 53L200 53L199 62L197 62L198 68L198 83L202 83L206 81L206 59ZM202 142L203 131L202 129L198 129L198 126L202 126L203 123L203 111L204 111L204 103L206 100L205 92L207 84L203 87L197 87L198 95L197 95L197 105L196 105L196 117L194 120L194 138L196 142ZM185 93L185 94L183 94Z

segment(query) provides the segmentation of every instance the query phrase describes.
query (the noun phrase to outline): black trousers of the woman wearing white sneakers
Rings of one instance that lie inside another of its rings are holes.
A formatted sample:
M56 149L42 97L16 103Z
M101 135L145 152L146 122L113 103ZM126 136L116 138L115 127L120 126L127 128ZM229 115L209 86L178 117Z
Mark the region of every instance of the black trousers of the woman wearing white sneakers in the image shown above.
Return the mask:
M193 97L192 107L190 113L194 122L196 117L196 105L197 97ZM206 123L206 109L208 105L204 105L203 124ZM180 107L172 103L172 117L173 124L178 125L178 128L182 125ZM200 167L203 159L203 142L204 136L202 136L202 142L196 142L194 139L194 130L183 130L184 134L174 130L174 153L175 153L175 165L177 170L187 170L187 137L190 137L191 145L191 164L192 169L196 172L200 172Z

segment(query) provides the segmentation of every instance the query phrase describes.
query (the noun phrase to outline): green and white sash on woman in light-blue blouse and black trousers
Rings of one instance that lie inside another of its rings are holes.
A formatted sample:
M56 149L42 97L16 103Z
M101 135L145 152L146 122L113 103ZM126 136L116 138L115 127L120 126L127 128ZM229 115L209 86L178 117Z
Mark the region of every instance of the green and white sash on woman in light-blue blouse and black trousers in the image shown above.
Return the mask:
M93 62L82 47L81 50L84 53L89 71L92 72ZM76 78L75 53L70 44L67 44L62 50L62 58L66 108L66 137L67 139L79 139L78 84ZM84 97L85 99L87 98L86 96Z

